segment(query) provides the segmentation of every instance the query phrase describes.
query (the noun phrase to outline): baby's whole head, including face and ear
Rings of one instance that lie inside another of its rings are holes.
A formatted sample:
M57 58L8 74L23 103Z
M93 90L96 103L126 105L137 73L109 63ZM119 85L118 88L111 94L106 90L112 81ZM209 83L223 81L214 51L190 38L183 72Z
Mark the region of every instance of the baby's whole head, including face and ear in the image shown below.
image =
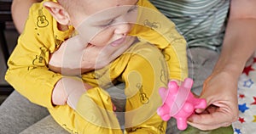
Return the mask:
M44 2L44 7L61 25L73 25L87 34L96 31L90 32L94 35L89 35L89 42L103 46L131 31L131 23L127 22L137 18L134 14L136 3L137 0L58 0L57 3Z

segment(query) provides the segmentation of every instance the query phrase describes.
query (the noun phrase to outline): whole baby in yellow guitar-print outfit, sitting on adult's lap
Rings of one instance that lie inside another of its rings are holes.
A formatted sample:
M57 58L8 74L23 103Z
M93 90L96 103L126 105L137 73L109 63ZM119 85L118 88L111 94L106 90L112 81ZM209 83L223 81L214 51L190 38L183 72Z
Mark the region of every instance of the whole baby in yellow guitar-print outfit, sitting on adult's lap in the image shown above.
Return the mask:
M48 108L69 132L164 133L166 122L156 114L158 88L170 79L183 81L187 66L183 36L163 18L146 0L34 4L6 80ZM125 83L124 130L104 90L120 82Z

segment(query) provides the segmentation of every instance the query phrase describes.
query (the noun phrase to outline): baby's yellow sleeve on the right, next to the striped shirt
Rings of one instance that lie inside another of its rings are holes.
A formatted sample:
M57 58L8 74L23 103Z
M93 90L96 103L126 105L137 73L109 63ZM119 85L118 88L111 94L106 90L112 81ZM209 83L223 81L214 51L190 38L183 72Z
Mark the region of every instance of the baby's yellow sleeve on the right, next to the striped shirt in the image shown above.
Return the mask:
M161 14L148 0L138 3L138 20L131 31L131 36L138 36L159 47L166 57L169 78L183 81L188 77L186 41L176 25Z

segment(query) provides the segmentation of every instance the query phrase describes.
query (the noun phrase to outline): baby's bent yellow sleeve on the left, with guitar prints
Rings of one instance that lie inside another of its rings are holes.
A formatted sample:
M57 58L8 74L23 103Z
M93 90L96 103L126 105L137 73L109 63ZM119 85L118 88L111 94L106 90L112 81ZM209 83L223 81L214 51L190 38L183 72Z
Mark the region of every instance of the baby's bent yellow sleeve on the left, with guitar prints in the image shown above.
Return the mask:
M30 8L24 32L11 54L5 80L32 103L52 107L51 93L62 77L48 68L49 53L55 51L53 18L36 3Z

